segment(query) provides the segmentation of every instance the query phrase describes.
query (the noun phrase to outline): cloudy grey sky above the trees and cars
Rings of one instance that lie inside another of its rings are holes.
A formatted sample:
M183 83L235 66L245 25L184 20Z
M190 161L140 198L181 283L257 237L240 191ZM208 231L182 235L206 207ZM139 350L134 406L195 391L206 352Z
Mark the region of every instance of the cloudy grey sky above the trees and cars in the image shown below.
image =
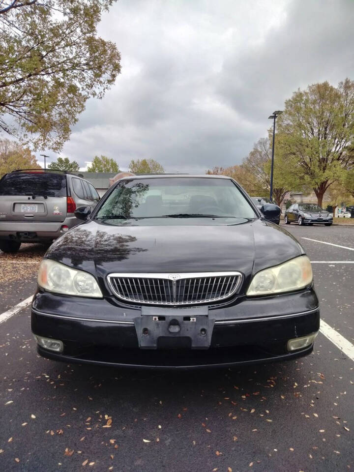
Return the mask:
M353 0L119 0L99 34L117 43L121 74L61 155L84 168L105 154L122 170L239 164L293 91L354 79L353 18Z

